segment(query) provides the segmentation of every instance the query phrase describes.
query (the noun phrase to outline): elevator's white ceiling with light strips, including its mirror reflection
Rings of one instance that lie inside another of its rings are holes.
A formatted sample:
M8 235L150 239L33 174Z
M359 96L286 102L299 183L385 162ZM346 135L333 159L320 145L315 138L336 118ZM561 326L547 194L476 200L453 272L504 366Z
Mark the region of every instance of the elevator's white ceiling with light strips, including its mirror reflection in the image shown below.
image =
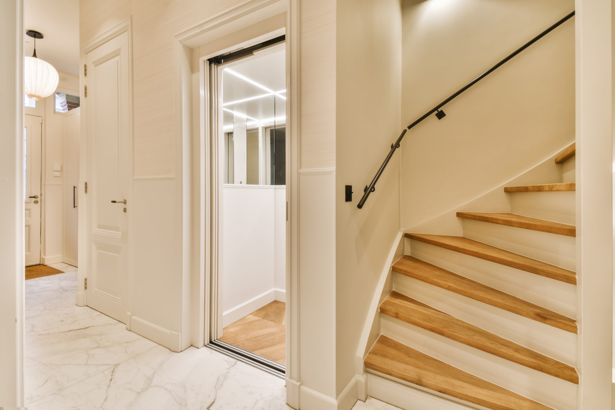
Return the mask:
M222 100L224 108L224 128L230 130L233 125L233 117L236 112L247 116L248 128L258 126L257 120L264 121L261 125L285 124L286 116L286 63L284 49L272 53L263 53L262 57L252 58L245 63L228 66L222 74ZM267 95L250 101L228 104L245 98L257 97L270 94L254 85L246 79L237 77L229 72L240 74L247 79L256 82L268 90L279 92L278 95ZM284 92L281 92L284 90ZM283 98L284 97L284 98ZM227 111L228 110L228 111ZM232 111L232 112L229 112Z

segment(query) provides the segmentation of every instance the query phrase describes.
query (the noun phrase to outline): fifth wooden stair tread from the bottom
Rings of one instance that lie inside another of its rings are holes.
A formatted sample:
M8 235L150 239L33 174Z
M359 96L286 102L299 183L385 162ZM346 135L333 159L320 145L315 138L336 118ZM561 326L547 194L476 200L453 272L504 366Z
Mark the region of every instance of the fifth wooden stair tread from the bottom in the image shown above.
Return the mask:
M517 215L514 213L458 212L457 217L531 229L532 231L576 237L576 226L574 225L547 221L546 219L531 218L530 216Z

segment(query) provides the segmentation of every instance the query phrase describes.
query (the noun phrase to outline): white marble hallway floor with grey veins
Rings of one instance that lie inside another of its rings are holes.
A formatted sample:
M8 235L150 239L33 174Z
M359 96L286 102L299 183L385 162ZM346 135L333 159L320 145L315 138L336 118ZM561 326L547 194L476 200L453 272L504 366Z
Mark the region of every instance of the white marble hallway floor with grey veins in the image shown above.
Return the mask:
M26 280L28 409L290 409L284 380L207 347L170 352L75 305L76 268ZM373 398L354 410L397 410Z

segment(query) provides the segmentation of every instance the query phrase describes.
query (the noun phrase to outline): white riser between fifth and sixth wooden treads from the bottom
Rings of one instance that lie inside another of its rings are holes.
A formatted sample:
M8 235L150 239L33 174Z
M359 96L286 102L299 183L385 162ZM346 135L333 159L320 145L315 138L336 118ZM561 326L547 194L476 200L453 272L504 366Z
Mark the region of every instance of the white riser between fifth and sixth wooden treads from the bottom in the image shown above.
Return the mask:
M511 192L510 211L517 215L574 225L575 191Z

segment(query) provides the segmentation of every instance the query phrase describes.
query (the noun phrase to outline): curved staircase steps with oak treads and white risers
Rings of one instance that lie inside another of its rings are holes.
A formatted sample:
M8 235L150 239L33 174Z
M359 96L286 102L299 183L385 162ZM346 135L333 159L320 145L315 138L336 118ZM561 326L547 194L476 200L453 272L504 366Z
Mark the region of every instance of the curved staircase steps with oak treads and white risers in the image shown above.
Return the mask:
M574 154L561 183L504 187L510 213L456 213L462 237L405 234L368 373L454 408L576 408Z

